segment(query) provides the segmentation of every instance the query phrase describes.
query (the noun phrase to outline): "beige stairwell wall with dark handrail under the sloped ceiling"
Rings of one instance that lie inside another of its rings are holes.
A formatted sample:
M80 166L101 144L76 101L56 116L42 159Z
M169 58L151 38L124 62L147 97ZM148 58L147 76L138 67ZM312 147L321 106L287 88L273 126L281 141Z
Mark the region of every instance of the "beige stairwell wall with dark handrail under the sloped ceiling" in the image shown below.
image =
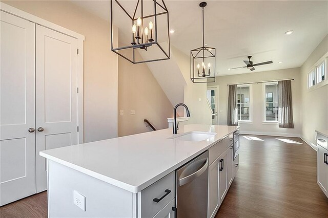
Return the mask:
M118 58L118 136L151 131L144 119L156 129L168 128L167 118L173 117L173 106L146 63L132 64ZM130 111L135 110L135 115Z

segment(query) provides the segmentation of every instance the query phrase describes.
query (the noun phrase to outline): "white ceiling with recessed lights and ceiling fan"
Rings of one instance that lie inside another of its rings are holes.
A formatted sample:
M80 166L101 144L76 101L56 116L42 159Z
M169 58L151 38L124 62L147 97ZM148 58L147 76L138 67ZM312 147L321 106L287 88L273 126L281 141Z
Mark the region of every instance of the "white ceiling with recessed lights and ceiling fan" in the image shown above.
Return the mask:
M103 19L110 19L110 1L72 2ZM170 28L175 30L171 44L188 56L190 50L201 47L202 43L200 2L165 1ZM248 55L253 55L254 63L273 61L252 72L300 67L328 34L328 1L207 3L205 41L216 48L217 76L250 73L245 68L228 70L244 66L242 60L247 60ZM285 35L288 30L294 33Z

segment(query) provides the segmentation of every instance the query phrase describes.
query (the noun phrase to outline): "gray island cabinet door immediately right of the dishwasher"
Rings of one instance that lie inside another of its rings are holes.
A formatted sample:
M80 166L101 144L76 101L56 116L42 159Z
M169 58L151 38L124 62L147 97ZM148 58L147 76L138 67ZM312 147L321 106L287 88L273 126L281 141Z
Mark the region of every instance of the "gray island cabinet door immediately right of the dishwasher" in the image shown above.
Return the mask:
M209 211L208 216L214 217L219 207L219 158L209 166Z

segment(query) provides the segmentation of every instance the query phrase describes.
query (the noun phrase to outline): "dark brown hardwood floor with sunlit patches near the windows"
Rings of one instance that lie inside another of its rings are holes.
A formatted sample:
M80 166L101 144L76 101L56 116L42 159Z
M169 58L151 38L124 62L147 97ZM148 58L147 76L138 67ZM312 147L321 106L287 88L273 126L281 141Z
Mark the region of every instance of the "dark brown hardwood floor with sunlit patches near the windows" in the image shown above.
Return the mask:
M0 216L47 217L47 192L0 207ZM217 217L328 217L316 152L298 138L240 136L239 171Z

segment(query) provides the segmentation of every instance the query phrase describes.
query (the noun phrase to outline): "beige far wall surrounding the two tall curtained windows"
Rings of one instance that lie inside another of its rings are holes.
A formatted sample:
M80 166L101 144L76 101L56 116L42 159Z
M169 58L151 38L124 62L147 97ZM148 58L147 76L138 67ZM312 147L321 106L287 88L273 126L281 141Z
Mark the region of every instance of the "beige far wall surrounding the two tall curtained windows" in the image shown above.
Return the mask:
M279 128L278 125L263 124L263 84L252 84L251 101L252 108L252 124L240 123L240 129L244 133L257 134L273 134L282 136L300 136L301 133L301 110L300 110L300 68L284 69L277 71L257 72L248 74L238 74L231 76L220 76L216 78L215 84L209 85L219 86L219 114L220 125L227 125L227 101L228 101L228 85L233 83L269 81L280 79L291 79L292 81L292 97L293 97L293 118L294 129Z

